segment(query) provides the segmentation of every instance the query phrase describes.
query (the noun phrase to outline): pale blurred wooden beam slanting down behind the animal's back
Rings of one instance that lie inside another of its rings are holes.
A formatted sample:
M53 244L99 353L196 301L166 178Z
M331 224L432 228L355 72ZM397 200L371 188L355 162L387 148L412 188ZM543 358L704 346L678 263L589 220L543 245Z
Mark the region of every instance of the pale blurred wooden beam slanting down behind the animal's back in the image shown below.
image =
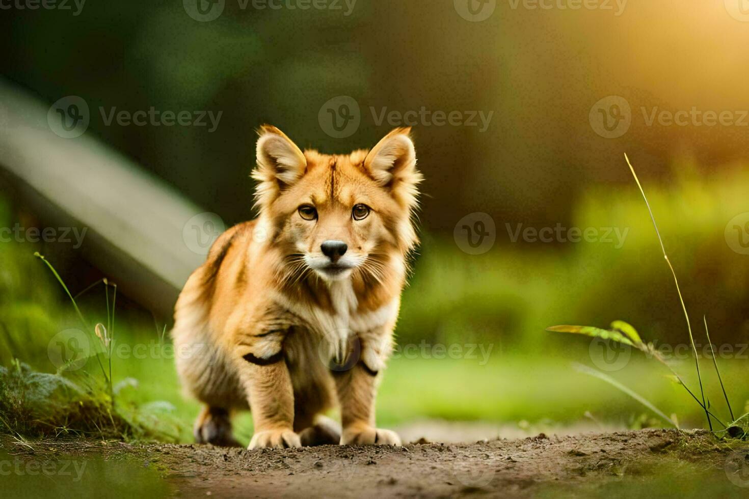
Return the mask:
M91 130L59 136L49 112L49 103L0 79L0 168L40 218L88 227L77 251L121 291L171 316L178 291L223 230L220 219L199 215L205 210Z

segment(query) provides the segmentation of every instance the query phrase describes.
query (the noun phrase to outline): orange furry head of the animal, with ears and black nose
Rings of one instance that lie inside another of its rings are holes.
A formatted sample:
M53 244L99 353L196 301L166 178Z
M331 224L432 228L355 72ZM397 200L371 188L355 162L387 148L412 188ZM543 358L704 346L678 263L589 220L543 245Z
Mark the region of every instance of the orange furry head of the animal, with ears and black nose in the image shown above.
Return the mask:
M257 204L273 224L273 244L291 266L327 281L368 272L416 245L412 223L421 174L410 129L394 129L372 150L302 152L274 126L258 139Z

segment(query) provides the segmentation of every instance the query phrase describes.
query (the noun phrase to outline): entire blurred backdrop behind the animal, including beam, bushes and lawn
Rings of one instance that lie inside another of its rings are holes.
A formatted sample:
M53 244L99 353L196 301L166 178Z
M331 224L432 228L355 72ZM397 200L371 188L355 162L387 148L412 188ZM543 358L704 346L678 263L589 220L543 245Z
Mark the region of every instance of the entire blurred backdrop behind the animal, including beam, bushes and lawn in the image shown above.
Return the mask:
M76 300L89 325L111 323L112 287L87 287L102 278L118 284L118 340L157 342L145 358L112 358L113 382L138 380L137 388L121 385L138 408L128 417L164 400L151 408L174 417L165 431L189 439L197 405L181 398L173 361L160 349L169 343L176 292L204 257L201 232L215 235L255 215L255 129L272 123L300 147L348 153L413 125L425 174L422 245L380 420L482 420L482 432L502 435L659 424L570 367L580 361L686 426L705 424L652 358L632 352L619 365L618 354L611 361L605 347L601 357L589 338L545 331L624 319L656 346L688 343L624 153L679 275L695 341L707 344L705 315L713 343L726 347L724 376L743 413L749 11L742 0L19 5L0 15L5 367L19 358L59 372L50 339L83 328L38 251L71 295L85 291ZM70 227L73 242L34 238L29 227ZM77 247L73 227L88 229ZM461 353L440 355L440 345ZM694 385L689 355L672 360ZM95 361L89 369L98 372ZM249 420L243 424L247 437Z

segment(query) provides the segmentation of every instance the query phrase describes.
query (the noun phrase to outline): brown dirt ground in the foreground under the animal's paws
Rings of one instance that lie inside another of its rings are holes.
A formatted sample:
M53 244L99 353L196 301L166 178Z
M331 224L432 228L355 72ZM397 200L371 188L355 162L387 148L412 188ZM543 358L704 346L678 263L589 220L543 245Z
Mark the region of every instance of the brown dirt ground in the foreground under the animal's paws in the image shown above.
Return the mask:
M62 446L64 448L57 448ZM50 451L75 446L46 442ZM97 444L129 456L181 497L747 497L749 447L707 432L644 430L404 447L241 450ZM707 495L706 495L707 494Z

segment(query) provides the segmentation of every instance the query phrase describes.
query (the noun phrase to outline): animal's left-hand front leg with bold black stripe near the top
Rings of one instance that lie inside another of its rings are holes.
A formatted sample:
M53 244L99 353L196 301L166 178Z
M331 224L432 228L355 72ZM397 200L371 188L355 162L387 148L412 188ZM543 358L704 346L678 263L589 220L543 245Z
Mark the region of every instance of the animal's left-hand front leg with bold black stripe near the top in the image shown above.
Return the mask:
M284 331L270 331L240 345L237 365L255 423L249 449L301 447L294 433L294 389L282 350L284 336Z

